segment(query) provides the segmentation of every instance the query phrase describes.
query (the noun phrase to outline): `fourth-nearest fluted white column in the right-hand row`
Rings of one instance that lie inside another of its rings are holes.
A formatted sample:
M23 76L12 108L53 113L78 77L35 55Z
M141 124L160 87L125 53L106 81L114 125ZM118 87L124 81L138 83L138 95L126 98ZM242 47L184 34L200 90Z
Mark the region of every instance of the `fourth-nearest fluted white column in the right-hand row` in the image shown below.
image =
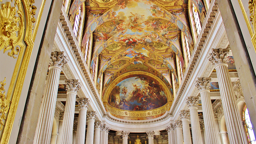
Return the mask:
M192 144L189 123L188 123L189 110L181 110L180 117L181 117L182 127L183 127L182 130L183 130L184 144Z

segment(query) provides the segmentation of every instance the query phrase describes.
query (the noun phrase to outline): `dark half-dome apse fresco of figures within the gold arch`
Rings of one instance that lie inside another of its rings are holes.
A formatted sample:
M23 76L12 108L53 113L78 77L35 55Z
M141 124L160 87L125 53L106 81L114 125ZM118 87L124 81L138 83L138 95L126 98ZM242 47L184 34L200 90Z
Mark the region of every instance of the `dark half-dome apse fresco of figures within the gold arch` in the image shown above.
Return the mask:
M154 78L138 75L124 79L111 91L108 104L119 109L151 110L167 103L166 94Z

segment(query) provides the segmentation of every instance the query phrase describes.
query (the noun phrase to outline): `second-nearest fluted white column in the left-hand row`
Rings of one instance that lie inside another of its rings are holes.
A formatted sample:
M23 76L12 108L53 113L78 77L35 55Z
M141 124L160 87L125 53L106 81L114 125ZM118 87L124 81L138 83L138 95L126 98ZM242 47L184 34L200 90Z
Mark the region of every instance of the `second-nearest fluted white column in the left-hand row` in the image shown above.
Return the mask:
M63 139L62 144L72 143L73 123L75 115L76 95L80 89L78 80L66 80L67 101L63 116Z

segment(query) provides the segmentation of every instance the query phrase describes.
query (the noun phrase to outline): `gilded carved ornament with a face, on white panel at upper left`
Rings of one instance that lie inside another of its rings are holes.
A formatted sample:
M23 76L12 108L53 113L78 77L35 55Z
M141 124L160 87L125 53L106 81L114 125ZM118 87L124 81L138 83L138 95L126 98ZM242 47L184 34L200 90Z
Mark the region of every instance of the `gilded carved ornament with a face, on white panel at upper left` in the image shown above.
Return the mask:
M17 2L15 2L16 4ZM20 2L18 2L20 3ZM16 58L14 55L17 55L20 49L15 46L23 45L21 43L21 38L23 34L23 15L20 11L16 10L16 7L11 7L11 2L6 2L1 4L2 9L0 10L0 51L4 49L4 52L7 50L12 50L8 52L8 55ZM16 11L19 17L16 17ZM19 25L18 25L19 24ZM16 34L18 31L18 36Z

